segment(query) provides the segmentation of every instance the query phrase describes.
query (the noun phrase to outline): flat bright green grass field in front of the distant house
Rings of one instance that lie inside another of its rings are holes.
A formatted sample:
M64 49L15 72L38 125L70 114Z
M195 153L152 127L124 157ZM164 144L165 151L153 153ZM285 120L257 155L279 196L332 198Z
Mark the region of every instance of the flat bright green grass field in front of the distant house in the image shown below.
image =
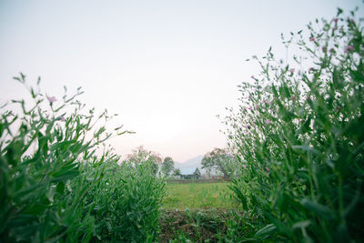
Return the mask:
M168 183L164 208L235 208L229 183Z

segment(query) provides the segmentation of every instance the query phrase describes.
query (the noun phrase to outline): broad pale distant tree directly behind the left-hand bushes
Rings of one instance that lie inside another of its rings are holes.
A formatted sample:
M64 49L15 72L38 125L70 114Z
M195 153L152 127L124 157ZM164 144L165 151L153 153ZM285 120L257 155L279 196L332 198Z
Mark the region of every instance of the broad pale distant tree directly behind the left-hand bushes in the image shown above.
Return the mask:
M126 161L132 164L151 163L153 166L153 173L157 175L158 168L162 162L159 154L153 151L148 151L143 146L136 147L132 153L126 156Z

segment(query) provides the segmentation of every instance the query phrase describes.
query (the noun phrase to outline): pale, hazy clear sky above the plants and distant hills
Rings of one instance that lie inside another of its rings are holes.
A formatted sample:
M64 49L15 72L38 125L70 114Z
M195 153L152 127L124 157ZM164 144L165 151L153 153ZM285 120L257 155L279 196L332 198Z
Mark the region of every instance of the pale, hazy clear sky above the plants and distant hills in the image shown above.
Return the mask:
M238 106L238 85L258 74L250 56L280 34L332 18L359 0L0 0L0 104L25 96L13 80L59 97L82 86L81 100L117 113L112 125L136 134L115 137L120 155L143 145L183 162L226 147L217 115Z

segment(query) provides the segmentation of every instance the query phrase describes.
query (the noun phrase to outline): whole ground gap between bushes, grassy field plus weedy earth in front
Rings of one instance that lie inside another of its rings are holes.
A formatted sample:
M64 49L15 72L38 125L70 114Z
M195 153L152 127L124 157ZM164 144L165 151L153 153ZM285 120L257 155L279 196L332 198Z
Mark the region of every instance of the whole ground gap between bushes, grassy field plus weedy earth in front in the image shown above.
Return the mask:
M171 238L184 242L180 236L195 242L218 242L219 236L226 234L227 220L232 217L230 209L238 209L228 185L229 182L167 183L159 220L160 242L170 242Z

